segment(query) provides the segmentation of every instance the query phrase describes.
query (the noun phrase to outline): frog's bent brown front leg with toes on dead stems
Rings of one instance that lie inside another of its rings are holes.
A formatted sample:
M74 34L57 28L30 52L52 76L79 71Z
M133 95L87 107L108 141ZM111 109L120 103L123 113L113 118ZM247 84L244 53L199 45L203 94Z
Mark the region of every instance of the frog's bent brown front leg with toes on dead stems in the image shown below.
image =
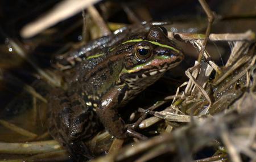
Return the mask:
M96 113L100 117L101 122L108 129L109 133L114 137L123 139L129 136L137 137L139 139L146 139L142 134L135 132L131 127L127 127L125 122L117 112L118 105L124 94L121 88L115 86L108 93L106 93L101 100L99 108Z

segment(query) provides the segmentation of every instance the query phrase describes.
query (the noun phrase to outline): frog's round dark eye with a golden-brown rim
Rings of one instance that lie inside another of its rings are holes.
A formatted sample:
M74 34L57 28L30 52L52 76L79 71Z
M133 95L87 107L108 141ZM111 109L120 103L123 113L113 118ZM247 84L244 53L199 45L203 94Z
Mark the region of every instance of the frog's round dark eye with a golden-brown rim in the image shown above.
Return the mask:
M135 56L139 59L147 59L151 56L152 50L149 45L138 45L135 48Z

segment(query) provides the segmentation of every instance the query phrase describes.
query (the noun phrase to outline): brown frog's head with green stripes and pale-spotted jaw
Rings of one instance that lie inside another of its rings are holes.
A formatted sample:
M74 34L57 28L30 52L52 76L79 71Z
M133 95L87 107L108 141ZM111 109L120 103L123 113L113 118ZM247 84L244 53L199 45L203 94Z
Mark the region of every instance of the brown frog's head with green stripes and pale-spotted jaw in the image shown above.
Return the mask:
M119 76L133 89L154 83L184 58L181 50L168 39L163 27L152 27L147 33L131 36L122 45L128 50Z

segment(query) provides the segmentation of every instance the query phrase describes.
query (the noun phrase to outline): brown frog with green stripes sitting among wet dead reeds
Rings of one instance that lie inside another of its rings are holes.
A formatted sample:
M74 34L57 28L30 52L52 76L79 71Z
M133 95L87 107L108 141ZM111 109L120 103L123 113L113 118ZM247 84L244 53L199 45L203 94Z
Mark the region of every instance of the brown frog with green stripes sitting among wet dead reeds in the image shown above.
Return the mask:
M97 50L76 52L82 57L67 90L53 89L49 97L49 133L77 161L93 157L84 140L101 126L118 139L140 137L117 109L184 58L166 29L158 26L119 33L108 45L96 42Z

